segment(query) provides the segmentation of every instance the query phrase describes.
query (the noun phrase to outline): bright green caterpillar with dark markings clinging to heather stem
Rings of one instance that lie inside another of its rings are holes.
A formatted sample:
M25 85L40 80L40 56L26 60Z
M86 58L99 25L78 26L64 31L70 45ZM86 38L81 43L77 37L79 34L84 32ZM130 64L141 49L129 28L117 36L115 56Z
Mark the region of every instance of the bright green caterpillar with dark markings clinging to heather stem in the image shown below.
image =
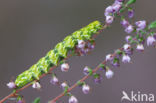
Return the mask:
M33 80L39 80L42 74L47 73L52 66L58 66L59 63L67 57L68 52L74 49L78 40L90 40L93 34L96 34L101 29L102 24L99 21L94 21L65 37L64 40L58 43L54 49L50 50L45 57L42 57L28 70L19 74L15 80L16 86L21 88Z

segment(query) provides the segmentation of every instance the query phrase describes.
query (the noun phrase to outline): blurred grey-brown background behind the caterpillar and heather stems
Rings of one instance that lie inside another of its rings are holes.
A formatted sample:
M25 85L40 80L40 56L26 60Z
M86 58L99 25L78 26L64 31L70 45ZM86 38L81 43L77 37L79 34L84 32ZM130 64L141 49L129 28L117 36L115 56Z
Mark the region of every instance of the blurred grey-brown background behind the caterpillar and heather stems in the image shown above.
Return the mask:
M114 0L0 0L0 99L8 95L6 84L36 63L58 42L94 20L104 21L104 9ZM137 0L134 5L135 17L132 20L156 20L156 0ZM72 57L68 60L70 71L62 73L55 69L60 81L70 85L82 78L85 66L96 67L108 53L121 47L127 35L117 18L111 29L104 30L96 38L95 50L88 56ZM145 47L143 53L135 52L132 63L112 68L114 78L107 80L103 74L100 85L92 78L86 82L92 87L88 95L80 88L72 93L80 103L120 103L122 91L130 93L153 93L156 95L156 49ZM41 79L42 89L27 88L20 94L26 102L41 97L41 103L47 103L59 95L62 90L49 83L50 76ZM67 103L63 97L58 103ZM128 103L128 102L127 102Z

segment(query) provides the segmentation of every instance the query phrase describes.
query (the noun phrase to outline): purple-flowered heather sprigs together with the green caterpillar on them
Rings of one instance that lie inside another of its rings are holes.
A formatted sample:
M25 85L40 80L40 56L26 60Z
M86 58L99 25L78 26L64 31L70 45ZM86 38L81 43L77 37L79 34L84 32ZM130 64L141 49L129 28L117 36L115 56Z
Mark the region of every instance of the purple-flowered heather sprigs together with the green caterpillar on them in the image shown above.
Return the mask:
M63 92L48 103L57 103L57 100L63 96L69 97L69 103L78 103L78 99L71 91L76 87L80 87L84 94L88 94L91 86L85 82L87 78L92 76L94 82L99 84L101 83L102 76L97 71L101 71L105 73L107 79L111 79L114 75L112 69L114 67L120 67L120 62L130 63L134 50L143 52L145 44L155 47L156 33L152 29L156 28L156 21L151 23L147 23L146 20L139 20L135 23L129 22L129 19L134 17L134 9L131 5L135 2L136 0L115 0L104 11L104 24L100 21L94 21L63 39L62 42L58 43L54 49L50 50L36 64L19 74L15 81L10 81L7 84L10 89L13 89L13 92L3 98L0 103L11 98L15 98L13 100L17 101L17 103L25 103L24 96L20 95L20 91L30 86L34 89L40 89L42 87L40 79L49 74L51 75L50 83L59 86ZM127 12L128 16L123 15L124 12ZM106 55L105 59L94 69L89 66L84 67L84 77L72 86L69 86L69 83L66 81L60 81L53 70L60 66L62 72L68 72L70 65L67 59L71 56L87 56L90 54L95 47L97 35L102 30L110 28L110 25L117 18L121 19L120 24L127 34L125 43L114 52ZM40 98L34 100L34 103L39 102Z

